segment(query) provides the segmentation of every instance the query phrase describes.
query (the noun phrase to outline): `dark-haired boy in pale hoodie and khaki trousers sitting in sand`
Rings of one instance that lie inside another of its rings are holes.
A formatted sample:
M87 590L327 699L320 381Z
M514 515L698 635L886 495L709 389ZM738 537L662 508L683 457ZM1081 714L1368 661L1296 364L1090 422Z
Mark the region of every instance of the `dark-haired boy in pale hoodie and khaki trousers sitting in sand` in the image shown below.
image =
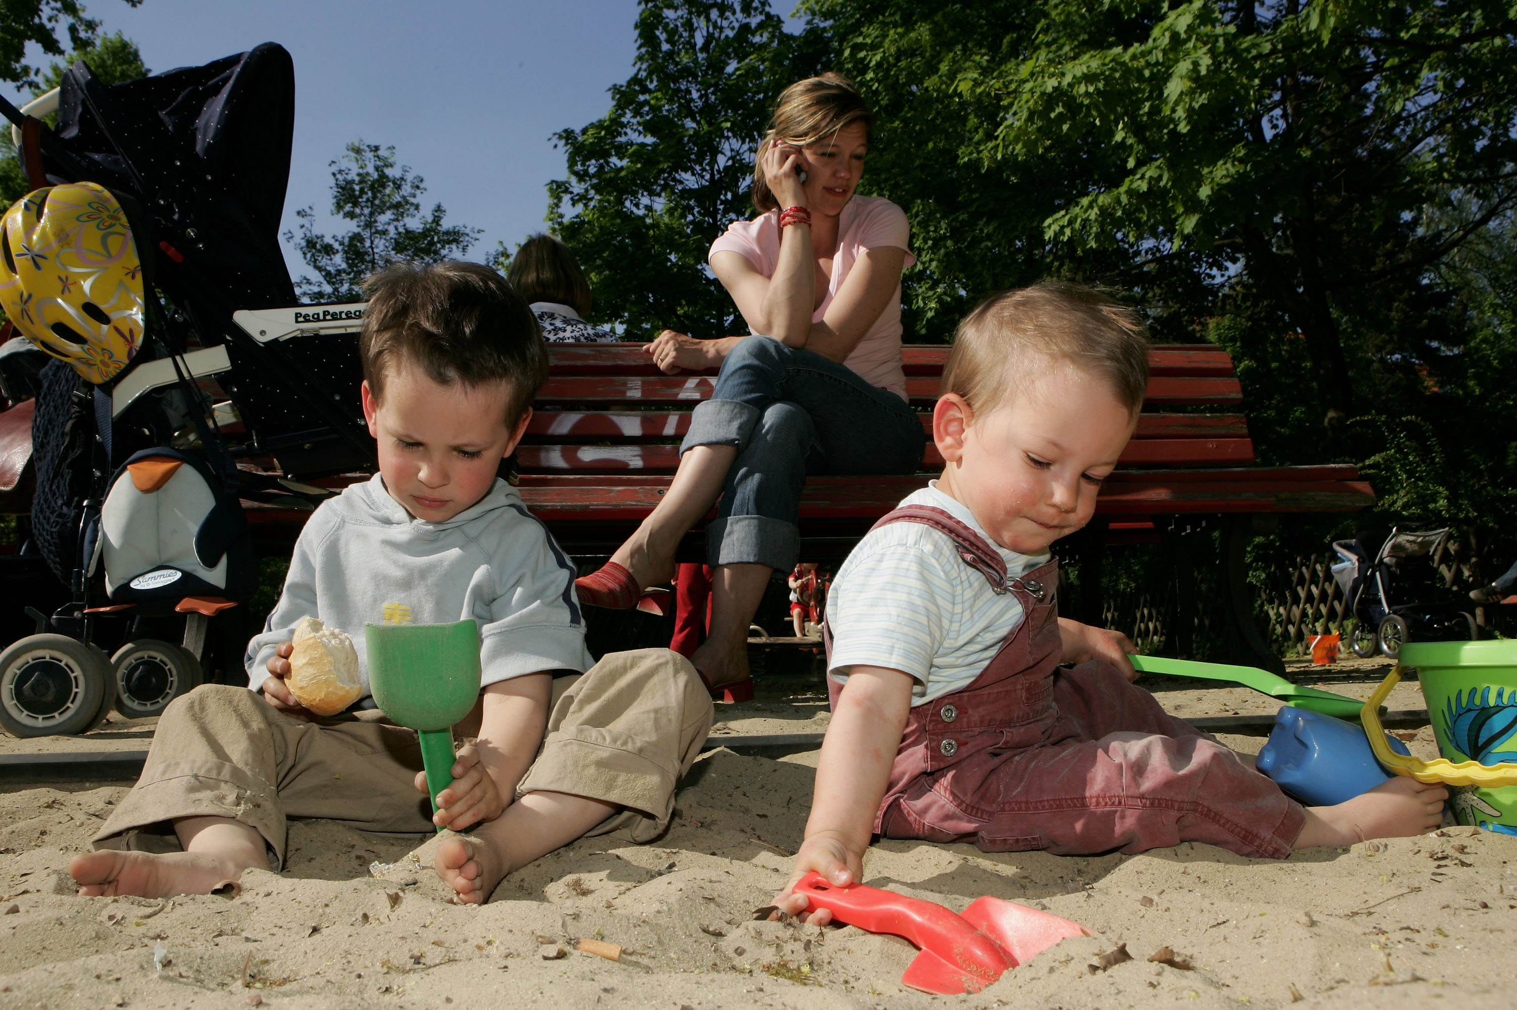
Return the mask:
M496 478L548 378L526 302L479 264L394 265L370 282L360 353L379 473L300 531L249 645L252 690L197 687L164 711L97 851L68 864L80 893L205 893L247 867L279 870L287 817L326 817L390 833L481 825L444 839L437 872L482 902L587 833L646 842L667 825L711 720L695 667L646 649L592 669L575 567ZM347 631L360 660L364 622L479 623L482 693L457 726L478 740L435 816L416 732L375 710L316 719L291 696L290 638L306 616Z

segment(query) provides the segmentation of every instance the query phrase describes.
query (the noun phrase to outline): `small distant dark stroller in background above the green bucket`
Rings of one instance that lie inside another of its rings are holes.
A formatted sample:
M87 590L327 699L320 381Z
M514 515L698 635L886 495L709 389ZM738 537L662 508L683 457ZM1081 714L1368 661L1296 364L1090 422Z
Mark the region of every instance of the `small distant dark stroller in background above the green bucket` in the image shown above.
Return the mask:
M1475 638L1475 614L1456 602L1437 601L1437 560L1449 529L1391 529L1377 550L1364 540L1336 540L1333 579L1353 616L1349 648L1368 660L1376 652L1394 660L1402 645L1417 640Z

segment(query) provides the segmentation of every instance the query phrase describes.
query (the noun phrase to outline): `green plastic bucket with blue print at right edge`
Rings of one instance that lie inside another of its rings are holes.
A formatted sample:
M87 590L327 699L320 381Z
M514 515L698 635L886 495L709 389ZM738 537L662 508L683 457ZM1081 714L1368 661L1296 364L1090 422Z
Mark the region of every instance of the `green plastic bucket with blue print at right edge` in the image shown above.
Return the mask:
M1438 752L1450 761L1517 763L1517 641L1408 641ZM1517 786L1450 786L1455 820L1517 834Z

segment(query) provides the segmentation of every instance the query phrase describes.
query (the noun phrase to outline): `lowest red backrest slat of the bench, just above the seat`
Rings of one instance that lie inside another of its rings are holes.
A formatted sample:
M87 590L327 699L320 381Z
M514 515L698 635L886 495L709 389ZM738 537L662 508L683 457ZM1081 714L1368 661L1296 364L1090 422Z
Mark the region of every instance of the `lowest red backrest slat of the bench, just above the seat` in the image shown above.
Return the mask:
M680 446L667 443L642 446L523 444L516 450L516 461L523 472L661 470L672 473L680 466ZM1135 438L1123 450L1121 463L1124 466L1236 466L1253 463L1253 443L1247 438ZM936 470L942 464L938 446L927 443L922 467Z

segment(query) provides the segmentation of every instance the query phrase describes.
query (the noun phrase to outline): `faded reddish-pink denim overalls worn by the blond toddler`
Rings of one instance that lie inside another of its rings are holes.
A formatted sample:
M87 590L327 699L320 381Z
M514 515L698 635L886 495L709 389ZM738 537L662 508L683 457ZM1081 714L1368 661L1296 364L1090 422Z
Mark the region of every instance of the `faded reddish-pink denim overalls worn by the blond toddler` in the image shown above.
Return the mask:
M1016 593L1024 619L968 687L912 708L875 833L986 852L1142 852L1180 842L1291 852L1305 814L1279 786L1165 714L1115 667L1059 667L1057 561L1007 579L1000 552L948 513L909 505L874 528L897 522L948 535L991 591ZM840 690L828 679L834 708Z

